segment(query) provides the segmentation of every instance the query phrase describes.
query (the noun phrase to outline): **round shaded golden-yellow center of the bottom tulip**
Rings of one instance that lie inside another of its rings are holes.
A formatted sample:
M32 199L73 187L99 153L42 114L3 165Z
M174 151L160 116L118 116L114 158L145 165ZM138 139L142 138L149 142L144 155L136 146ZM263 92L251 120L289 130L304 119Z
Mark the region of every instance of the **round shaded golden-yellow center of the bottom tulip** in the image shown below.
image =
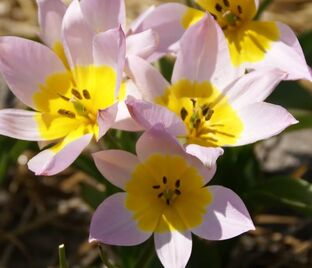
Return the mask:
M198 171L177 155L154 154L126 185L126 207L143 231L185 231L200 225L212 194Z

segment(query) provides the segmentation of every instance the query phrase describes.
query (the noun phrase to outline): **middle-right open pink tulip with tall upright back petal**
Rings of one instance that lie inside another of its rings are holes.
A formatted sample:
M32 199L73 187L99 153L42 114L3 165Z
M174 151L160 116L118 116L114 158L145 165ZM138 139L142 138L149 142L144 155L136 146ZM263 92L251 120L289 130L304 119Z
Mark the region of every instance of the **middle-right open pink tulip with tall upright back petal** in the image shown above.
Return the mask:
M133 118L145 129L157 123L186 144L237 146L269 138L297 121L284 108L263 102L285 73L242 75L232 67L222 30L207 15L180 42L172 84L146 61L128 58L144 100L129 98Z

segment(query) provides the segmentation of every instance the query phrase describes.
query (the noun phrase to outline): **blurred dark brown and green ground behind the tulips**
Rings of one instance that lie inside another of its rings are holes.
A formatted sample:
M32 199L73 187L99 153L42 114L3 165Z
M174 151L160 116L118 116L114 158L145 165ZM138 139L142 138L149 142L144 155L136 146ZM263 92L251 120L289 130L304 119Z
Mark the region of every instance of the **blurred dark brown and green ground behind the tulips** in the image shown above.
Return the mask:
M169 1L126 0L127 18L164 2ZM312 1L262 3L261 19L291 26L312 66ZM37 33L35 0L0 0L0 35L39 40ZM166 70L171 61L163 59L159 66ZM257 229L223 242L195 238L187 267L312 267L312 85L283 82L269 101L289 109L300 124L270 140L227 149L212 181L244 199ZM22 104L0 77L0 108L8 107ZM133 152L138 136L110 131L88 152ZM69 267L161 267L152 240L137 247L102 246L104 265L98 246L88 243L88 228L96 206L116 189L87 153L57 176L36 177L26 163L38 150L35 142L0 136L0 268L58 267L62 243Z

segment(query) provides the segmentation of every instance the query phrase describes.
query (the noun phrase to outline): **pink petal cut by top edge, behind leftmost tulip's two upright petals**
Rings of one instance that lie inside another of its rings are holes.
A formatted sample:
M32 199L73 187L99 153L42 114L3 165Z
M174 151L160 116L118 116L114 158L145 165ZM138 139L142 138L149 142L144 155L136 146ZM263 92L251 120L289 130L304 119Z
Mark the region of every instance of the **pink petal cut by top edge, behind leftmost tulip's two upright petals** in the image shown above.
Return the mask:
M124 28L126 14L123 0L81 0L82 13L94 32Z

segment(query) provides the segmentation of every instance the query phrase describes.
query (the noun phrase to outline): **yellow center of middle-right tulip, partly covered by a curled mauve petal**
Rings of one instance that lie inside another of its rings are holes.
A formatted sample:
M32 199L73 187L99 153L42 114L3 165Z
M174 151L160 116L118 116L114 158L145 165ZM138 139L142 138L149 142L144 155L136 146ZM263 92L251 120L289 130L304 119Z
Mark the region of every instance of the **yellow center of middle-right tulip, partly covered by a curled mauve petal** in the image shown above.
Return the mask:
M155 100L183 120L186 142L203 146L235 144L243 123L227 98L209 82L180 80Z

